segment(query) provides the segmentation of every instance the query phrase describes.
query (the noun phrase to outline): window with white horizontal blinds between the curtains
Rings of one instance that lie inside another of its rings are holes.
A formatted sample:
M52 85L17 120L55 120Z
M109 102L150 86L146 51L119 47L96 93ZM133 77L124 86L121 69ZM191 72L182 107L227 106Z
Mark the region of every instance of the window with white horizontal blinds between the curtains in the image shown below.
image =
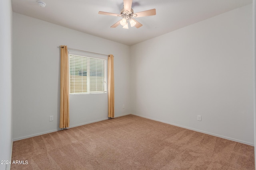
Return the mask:
M107 59L69 53L70 94L106 92Z

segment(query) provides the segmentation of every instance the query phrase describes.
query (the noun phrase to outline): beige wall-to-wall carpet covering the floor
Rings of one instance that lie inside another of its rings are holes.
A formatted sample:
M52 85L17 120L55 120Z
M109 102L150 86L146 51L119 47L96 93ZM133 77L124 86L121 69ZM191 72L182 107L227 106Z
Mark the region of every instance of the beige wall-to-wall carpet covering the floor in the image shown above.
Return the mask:
M11 169L254 170L254 147L134 115L14 141Z

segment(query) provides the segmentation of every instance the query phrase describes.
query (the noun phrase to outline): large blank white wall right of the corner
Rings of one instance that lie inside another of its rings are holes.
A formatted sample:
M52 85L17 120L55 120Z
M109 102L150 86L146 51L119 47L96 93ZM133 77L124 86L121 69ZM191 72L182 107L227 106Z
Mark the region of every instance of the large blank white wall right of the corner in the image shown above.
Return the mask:
M252 5L133 45L130 66L133 113L254 145Z

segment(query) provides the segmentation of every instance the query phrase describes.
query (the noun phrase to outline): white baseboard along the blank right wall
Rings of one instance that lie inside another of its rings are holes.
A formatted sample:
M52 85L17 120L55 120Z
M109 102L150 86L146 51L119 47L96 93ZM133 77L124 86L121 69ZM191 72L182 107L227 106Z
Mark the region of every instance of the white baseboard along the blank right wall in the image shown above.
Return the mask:
M160 122L162 122L162 123L167 123L167 124L170 124L170 125L182 127L182 128L185 128L185 129L190 129L190 130L192 130L192 131L197 131L197 132L205 133L205 134L208 134L208 135L220 137L220 138L223 138L223 139L228 139L228 140L230 140L230 141L235 141L235 142L243 143L243 144L250 145L250 146L253 146L253 147L254 147L254 143L249 143L249 142L246 142L246 141L240 141L240 140L238 140L238 139L233 139L233 138L230 138L230 137L225 137L225 136L222 136L222 135L217 135L217 134L214 134L214 133L210 133L210 132L206 132L206 131L201 131L201 130L194 129L194 128L190 128L190 127L186 127L186 126L182 126L182 125L177 125L177 124L170 123L170 122L167 122L167 121L162 121L162 120L153 119L153 118L146 117L146 116L142 116L142 115L137 115L137 114L134 114L134 113L131 113L131 114L132 114L132 115L135 115L135 116L139 116L139 117L144 117L144 118L147 118L147 119L155 120L155 121L160 121Z

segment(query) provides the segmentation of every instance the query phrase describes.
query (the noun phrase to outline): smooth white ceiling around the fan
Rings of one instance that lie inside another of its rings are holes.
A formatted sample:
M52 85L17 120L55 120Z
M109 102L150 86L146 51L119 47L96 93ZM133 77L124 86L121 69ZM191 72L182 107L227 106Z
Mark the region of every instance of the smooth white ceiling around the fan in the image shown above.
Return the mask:
M163 35L252 3L252 0L133 0L134 13L156 9L155 16L137 18L142 27L110 28L121 18L99 15L99 11L120 14L123 0L12 0L12 10L26 16L62 25L126 45Z

